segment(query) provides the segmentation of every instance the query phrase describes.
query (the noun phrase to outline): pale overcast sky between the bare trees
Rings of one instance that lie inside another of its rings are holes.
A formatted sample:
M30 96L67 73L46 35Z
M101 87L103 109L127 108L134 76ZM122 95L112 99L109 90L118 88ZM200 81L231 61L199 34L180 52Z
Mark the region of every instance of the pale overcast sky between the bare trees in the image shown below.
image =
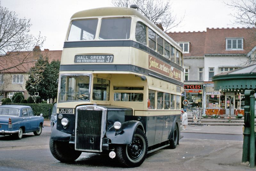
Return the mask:
M206 28L242 27L234 25L234 10L224 4L231 0L171 0L173 14L182 23L170 32L206 31ZM77 11L113 6L111 0L0 0L18 18L30 19L31 34L46 37L41 50L62 50L70 17ZM168 31L168 32L169 32Z

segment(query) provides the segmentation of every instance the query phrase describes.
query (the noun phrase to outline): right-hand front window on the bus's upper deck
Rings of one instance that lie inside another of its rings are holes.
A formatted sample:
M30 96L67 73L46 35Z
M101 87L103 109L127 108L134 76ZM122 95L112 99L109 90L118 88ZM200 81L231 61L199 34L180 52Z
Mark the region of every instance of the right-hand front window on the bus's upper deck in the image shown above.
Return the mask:
M131 18L103 18L99 39L129 39Z

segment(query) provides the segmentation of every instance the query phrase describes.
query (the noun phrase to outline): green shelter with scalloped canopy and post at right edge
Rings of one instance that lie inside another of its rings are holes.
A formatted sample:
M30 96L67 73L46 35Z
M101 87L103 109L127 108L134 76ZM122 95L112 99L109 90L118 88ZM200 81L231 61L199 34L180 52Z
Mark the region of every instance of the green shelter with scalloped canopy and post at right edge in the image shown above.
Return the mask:
M244 142L242 162L250 162L255 167L255 91L256 64L236 69L212 77L214 89L222 92L243 92L244 106Z

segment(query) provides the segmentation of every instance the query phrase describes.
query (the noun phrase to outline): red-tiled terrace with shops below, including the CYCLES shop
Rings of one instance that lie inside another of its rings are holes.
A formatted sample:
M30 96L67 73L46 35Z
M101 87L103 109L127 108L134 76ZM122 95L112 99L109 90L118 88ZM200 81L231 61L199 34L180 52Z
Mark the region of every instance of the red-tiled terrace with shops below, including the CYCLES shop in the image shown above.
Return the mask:
M183 49L184 88L192 107L208 115L243 113L244 95L214 90L212 76L249 64L255 56L255 28L207 28L206 32L169 32ZM198 89L196 89L196 87Z

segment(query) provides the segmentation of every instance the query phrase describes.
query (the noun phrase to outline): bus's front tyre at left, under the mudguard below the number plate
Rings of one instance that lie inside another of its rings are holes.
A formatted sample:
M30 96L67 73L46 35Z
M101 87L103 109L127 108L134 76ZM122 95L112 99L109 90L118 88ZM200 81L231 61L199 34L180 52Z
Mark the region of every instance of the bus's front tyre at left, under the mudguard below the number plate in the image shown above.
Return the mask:
M52 139L50 139L50 151L55 159L65 163L75 161L82 153L70 148L66 141L54 141Z

